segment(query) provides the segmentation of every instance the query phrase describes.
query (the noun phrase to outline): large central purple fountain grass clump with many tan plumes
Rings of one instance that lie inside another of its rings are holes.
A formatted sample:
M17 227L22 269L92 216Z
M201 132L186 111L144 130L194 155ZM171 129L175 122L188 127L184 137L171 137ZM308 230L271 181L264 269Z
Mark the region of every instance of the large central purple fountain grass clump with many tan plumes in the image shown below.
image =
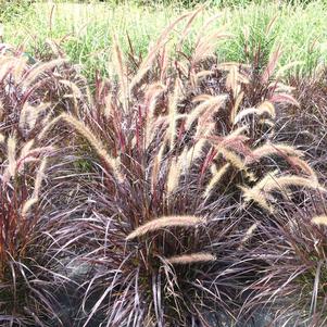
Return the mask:
M80 326L242 324L264 274L251 255L257 227L275 226L304 189L325 191L304 153L275 140L280 110L299 105L274 79L279 48L255 78L216 61L223 30L201 32L189 55L168 53L176 24L188 21L181 42L198 13L173 22L135 72L113 38L116 76L97 80L83 120L63 113L41 135L71 128L88 163L83 214L62 234L88 266Z

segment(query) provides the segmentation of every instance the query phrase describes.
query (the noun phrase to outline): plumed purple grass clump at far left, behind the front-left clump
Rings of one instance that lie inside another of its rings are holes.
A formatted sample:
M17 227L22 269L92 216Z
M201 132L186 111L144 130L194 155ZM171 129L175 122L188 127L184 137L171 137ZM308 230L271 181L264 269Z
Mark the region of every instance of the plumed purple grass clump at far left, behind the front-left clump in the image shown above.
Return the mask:
M1 134L28 141L61 112L83 113L86 81L65 59L30 64L22 51L0 54ZM78 108L78 109L77 109Z

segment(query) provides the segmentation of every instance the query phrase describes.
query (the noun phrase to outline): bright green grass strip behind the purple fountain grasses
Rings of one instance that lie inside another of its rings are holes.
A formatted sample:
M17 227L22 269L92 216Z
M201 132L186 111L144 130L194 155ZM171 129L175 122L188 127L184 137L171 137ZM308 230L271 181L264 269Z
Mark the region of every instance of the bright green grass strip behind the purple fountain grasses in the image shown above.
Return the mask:
M128 51L128 35L136 52L144 54L151 40L168 22L194 4L194 1L181 2L5 2L1 9L3 39L15 46L23 45L27 52L38 58L47 56L47 40L55 41L74 63L83 64L89 78L93 78L97 71L103 74L111 72L113 34L118 36L125 51ZM282 55L279 64L301 62L291 71L309 74L327 60L327 1L306 2L209 1L196 20L190 38L201 30L207 18L218 14L212 28L225 26L232 34L230 39L218 42L216 52L221 61L251 60L243 51L246 33L250 52L260 45L268 55L280 45ZM272 21L274 24L266 33ZM181 26L176 28L175 35ZM172 37L172 47L175 39L177 37Z

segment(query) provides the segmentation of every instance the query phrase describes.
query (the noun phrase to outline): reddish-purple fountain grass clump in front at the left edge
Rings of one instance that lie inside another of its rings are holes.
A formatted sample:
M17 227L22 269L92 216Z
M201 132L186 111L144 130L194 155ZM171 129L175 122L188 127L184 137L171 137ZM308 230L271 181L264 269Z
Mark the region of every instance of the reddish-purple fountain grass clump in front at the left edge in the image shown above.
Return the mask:
M14 137L1 143L1 326L41 326L56 316L51 290L60 276L39 203L49 149L29 146L20 148Z

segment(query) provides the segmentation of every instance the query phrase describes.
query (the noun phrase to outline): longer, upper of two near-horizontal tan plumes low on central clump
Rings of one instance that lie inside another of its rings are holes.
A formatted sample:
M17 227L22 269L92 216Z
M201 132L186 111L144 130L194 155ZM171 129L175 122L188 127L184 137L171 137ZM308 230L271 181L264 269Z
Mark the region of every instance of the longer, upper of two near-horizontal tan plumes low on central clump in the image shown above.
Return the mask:
M126 240L148 234L149 231L159 230L167 227L193 227L205 223L205 218L197 216L162 216L137 227L131 231Z

